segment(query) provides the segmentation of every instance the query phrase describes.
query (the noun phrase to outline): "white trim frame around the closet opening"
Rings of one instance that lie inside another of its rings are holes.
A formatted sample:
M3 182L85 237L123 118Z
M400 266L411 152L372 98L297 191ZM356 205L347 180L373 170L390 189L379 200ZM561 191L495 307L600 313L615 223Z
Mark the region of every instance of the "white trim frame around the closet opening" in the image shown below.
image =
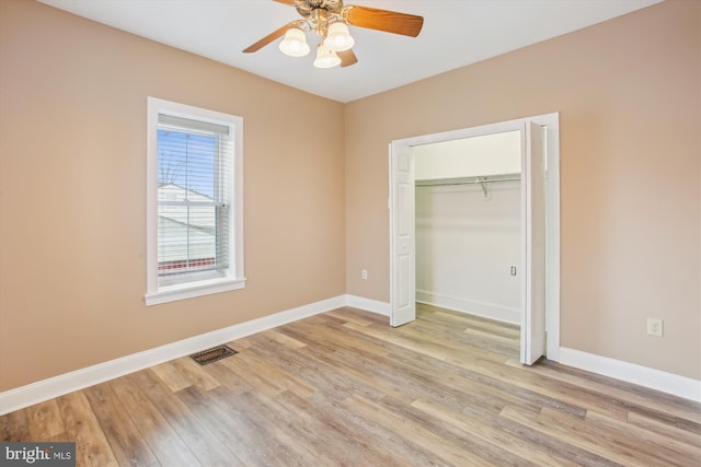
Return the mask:
M394 277L393 254L394 245L392 219L397 208L397 200L392 196L392 147L421 145L464 138L487 136L505 131L521 130L528 121L545 127L547 175L545 175L545 210L547 210L547 247L545 247L545 355L549 360L560 360L560 113L536 115L508 121L486 124L458 130L444 131L418 137L394 140L389 144L390 174L388 200L390 219L390 313L393 313ZM522 156L522 155L521 155ZM413 161L412 161L413 163Z

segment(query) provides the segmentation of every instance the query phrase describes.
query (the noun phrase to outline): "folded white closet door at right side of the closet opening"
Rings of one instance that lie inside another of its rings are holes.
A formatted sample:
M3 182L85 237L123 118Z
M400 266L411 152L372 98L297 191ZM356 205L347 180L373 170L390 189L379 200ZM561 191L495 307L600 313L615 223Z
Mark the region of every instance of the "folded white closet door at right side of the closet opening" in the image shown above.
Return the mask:
M545 353L545 168L544 129L524 129L521 157L521 363Z

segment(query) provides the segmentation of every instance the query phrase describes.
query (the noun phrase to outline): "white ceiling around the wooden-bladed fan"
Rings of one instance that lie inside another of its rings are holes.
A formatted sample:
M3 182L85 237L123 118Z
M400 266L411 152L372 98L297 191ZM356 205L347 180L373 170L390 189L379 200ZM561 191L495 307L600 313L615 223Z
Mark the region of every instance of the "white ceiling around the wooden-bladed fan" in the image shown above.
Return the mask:
M320 70L280 39L241 50L300 19L272 0L39 0L61 10L338 102L464 67L660 0L346 0L424 16L418 37L350 27L358 63ZM308 36L312 50L315 37Z

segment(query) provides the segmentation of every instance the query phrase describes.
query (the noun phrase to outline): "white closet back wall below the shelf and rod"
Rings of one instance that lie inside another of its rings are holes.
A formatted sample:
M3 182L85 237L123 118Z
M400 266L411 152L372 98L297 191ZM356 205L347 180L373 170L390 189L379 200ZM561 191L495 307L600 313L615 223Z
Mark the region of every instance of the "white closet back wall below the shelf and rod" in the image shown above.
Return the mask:
M520 324L520 182L485 187L417 183L416 300Z

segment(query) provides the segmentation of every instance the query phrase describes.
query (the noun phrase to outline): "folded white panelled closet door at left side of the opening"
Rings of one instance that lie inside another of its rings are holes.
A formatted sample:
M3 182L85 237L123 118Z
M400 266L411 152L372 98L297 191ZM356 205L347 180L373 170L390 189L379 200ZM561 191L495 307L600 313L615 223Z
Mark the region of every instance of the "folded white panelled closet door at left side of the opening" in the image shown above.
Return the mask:
M416 319L414 157L409 145L390 145L390 325Z

